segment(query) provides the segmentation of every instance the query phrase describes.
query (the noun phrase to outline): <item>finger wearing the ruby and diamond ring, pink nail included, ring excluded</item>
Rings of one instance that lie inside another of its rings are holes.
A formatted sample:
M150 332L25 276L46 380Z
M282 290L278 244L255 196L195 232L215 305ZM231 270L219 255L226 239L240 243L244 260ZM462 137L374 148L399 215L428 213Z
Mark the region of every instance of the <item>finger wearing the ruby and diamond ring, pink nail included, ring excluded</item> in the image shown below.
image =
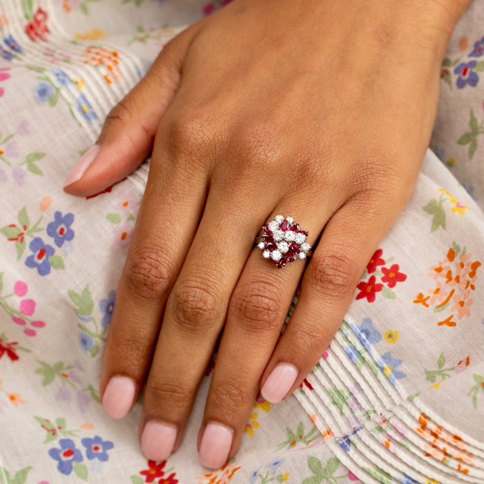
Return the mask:
M300 216L303 211L293 212L295 220L304 221L301 225L309 231L308 243L314 243L334 209L325 207L311 218ZM259 248L250 254L230 299L199 434L199 456L206 467L221 467L239 447L261 375L277 344L304 267L303 261L295 261L279 269L262 257Z

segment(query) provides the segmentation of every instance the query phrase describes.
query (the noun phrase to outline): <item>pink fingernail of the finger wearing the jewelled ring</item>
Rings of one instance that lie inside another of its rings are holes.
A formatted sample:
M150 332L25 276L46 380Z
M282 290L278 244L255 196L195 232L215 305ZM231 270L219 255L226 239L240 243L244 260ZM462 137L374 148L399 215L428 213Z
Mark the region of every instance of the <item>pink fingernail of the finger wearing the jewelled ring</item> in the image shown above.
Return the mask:
M200 442L200 462L210 469L222 467L229 458L234 431L217 422L208 422Z

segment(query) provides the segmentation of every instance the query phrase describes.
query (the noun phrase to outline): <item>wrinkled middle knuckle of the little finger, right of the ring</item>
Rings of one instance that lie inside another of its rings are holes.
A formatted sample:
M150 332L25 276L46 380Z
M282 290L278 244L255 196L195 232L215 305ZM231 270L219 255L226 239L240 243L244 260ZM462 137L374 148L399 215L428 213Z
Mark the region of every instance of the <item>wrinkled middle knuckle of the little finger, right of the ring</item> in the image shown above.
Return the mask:
M315 257L306 269L310 288L326 297L344 297L352 293L358 277L357 264L342 252Z

